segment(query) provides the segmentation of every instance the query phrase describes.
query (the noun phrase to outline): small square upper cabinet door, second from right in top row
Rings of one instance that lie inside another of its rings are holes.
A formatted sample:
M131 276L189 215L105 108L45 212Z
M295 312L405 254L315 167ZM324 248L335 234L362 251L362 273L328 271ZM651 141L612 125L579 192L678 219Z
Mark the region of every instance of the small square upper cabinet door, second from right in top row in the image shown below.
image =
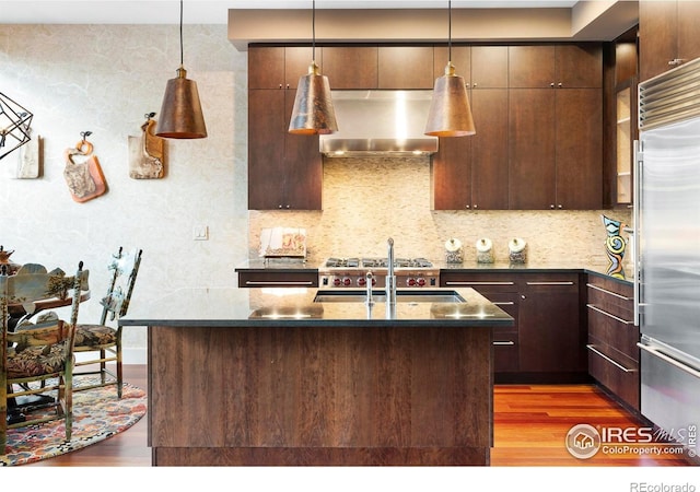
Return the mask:
M550 87L555 83L553 46L510 46L509 87Z

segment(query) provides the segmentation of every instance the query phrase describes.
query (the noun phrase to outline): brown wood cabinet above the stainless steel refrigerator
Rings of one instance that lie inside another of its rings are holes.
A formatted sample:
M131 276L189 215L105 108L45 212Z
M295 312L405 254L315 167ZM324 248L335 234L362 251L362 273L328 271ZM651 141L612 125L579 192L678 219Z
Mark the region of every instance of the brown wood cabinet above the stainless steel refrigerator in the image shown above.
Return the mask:
M700 57L700 1L640 0L640 81Z

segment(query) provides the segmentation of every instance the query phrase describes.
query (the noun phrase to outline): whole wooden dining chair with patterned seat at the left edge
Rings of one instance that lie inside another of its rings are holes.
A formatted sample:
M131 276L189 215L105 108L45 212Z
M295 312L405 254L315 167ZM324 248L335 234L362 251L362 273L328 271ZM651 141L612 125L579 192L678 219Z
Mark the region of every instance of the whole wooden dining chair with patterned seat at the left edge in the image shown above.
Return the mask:
M73 335L78 323L81 290L88 271L80 262L74 277L60 270L47 272L40 265L21 267L15 274L0 271L2 343L0 345L0 450L5 453L8 429L66 420L66 440L72 431ZM28 320L10 330L11 308L22 306L35 313L34 304L46 298L68 298L72 291L70 323L55 313L43 314L36 324ZM24 406L24 398L44 397L45 405ZM13 411L9 419L8 407ZM10 420L12 420L10 422Z

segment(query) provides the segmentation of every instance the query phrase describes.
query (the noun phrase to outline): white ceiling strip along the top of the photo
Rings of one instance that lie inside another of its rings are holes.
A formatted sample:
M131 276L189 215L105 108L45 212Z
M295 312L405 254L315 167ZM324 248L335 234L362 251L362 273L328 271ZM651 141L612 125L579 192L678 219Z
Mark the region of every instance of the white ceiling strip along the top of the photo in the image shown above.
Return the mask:
M178 3L177 0L0 0L0 24L177 24ZM575 3L574 0L455 0L452 8L572 8ZM310 9L311 5L311 0L184 0L183 17L185 24L226 24L229 9ZM319 10L446 7L447 0L316 1Z

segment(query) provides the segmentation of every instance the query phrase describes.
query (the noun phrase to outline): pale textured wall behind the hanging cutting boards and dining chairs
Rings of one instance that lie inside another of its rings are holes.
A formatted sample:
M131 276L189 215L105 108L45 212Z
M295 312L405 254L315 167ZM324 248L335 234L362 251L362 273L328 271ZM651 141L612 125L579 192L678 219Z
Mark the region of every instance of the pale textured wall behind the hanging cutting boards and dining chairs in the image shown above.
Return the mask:
M228 42L225 25L185 25L184 39L209 137L168 141L165 178L137 180L127 139L144 114L160 112L176 77L178 27L0 25L0 92L34 114L33 134L44 141L39 179L10 177L16 153L0 160L0 244L16 262L69 271L83 260L93 288L83 320L98 319L106 262L119 245L144 251L133 303L185 285L234 284L233 268L246 258L247 56ZM109 190L77 203L63 151L84 130ZM198 224L210 241L192 241ZM125 344L143 355L145 330L126 330Z

